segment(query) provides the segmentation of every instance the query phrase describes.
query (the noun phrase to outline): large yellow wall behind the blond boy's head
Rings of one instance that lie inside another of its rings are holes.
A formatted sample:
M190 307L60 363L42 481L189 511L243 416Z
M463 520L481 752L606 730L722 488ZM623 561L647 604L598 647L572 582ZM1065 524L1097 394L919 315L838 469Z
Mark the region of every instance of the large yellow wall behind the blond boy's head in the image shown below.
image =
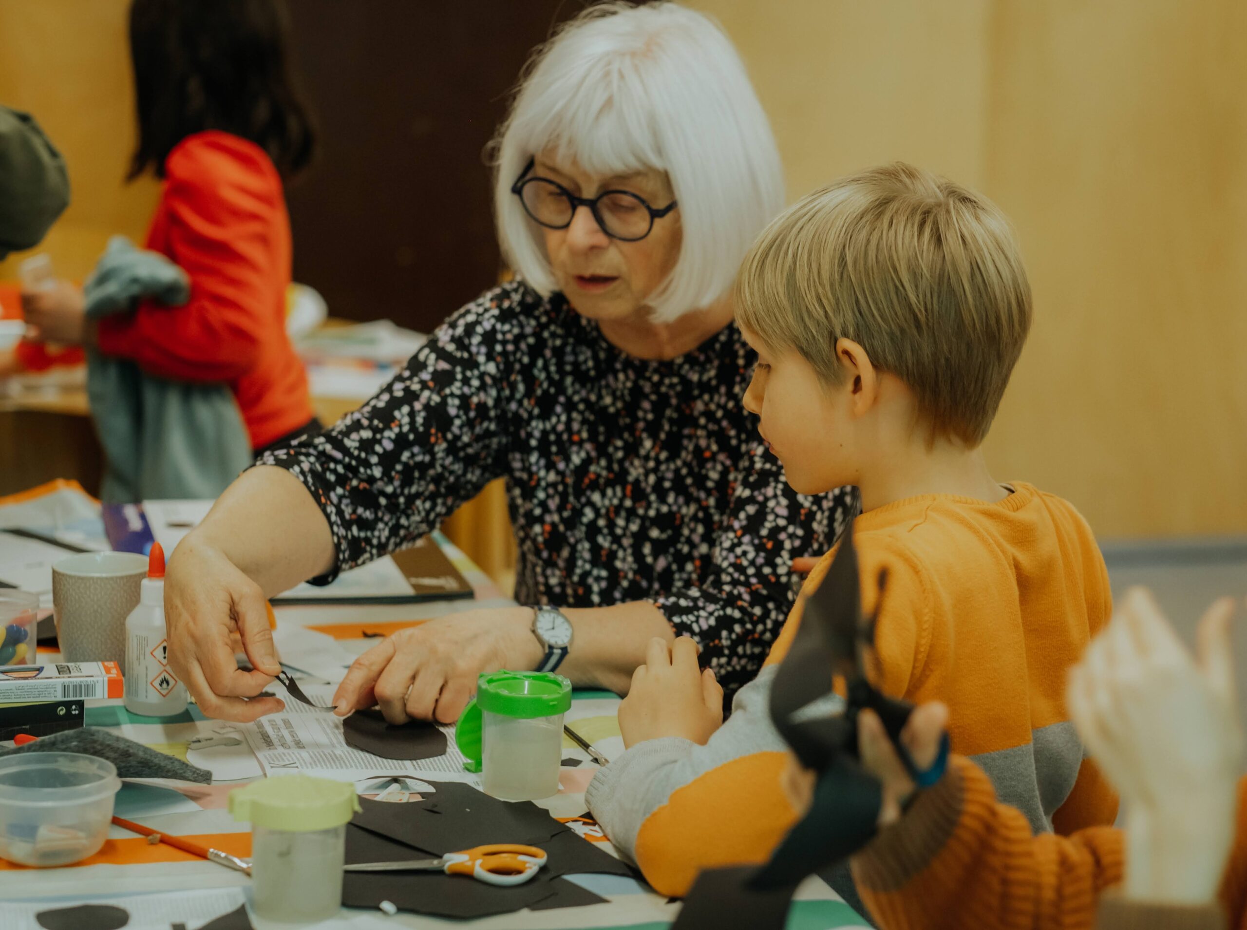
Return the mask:
M691 0L791 197L903 158L983 191L1036 318L988 455L1102 537L1247 532L1247 5Z

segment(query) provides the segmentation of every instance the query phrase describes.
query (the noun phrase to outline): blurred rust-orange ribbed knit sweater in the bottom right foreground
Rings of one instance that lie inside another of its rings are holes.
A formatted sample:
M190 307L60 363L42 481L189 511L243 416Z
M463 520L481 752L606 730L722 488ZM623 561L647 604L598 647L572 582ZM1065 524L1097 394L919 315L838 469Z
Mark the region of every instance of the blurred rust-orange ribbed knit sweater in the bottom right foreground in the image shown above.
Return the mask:
M1221 899L1230 926L1247 930L1247 779ZM883 930L999 928L1220 928L1213 909L1134 905L1105 889L1122 878L1122 833L1033 835L1021 812L996 800L991 782L954 757L897 825L853 858L862 900ZM1099 921L1096 921L1096 911Z

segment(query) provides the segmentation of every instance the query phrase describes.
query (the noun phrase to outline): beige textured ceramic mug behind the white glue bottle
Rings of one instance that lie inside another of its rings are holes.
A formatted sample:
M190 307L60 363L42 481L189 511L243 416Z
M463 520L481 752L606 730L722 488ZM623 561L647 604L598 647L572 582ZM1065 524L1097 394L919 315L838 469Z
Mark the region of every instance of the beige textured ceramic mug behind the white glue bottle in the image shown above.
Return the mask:
M84 552L52 566L56 638L66 662L126 658L126 617L138 606L147 560L133 552Z

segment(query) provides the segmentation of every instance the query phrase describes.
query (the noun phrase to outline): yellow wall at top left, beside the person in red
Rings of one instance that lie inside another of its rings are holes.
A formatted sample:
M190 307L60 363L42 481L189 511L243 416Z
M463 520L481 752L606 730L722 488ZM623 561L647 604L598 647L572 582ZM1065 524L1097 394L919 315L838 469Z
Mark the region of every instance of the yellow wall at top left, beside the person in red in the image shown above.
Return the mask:
M108 236L138 242L158 185L126 185L135 146L127 0L0 0L0 102L35 115L69 166L69 209L36 249L79 279ZM0 263L15 278L25 254Z

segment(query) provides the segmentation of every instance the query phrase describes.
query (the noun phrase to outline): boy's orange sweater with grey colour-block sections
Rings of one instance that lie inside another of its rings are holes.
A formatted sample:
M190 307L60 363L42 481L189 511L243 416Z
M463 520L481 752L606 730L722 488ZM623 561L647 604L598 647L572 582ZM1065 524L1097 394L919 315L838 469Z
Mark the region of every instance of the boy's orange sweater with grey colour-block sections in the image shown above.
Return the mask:
M1065 714L1065 672L1111 612L1104 560L1074 507L1025 484L995 504L914 497L858 517L854 544L867 611L888 568L875 683L946 702L953 748L974 755L1036 830L1112 823L1116 795L1082 762ZM685 894L702 869L764 861L796 819L766 698L801 613L798 602L706 745L638 743L590 784L599 823L662 894Z

